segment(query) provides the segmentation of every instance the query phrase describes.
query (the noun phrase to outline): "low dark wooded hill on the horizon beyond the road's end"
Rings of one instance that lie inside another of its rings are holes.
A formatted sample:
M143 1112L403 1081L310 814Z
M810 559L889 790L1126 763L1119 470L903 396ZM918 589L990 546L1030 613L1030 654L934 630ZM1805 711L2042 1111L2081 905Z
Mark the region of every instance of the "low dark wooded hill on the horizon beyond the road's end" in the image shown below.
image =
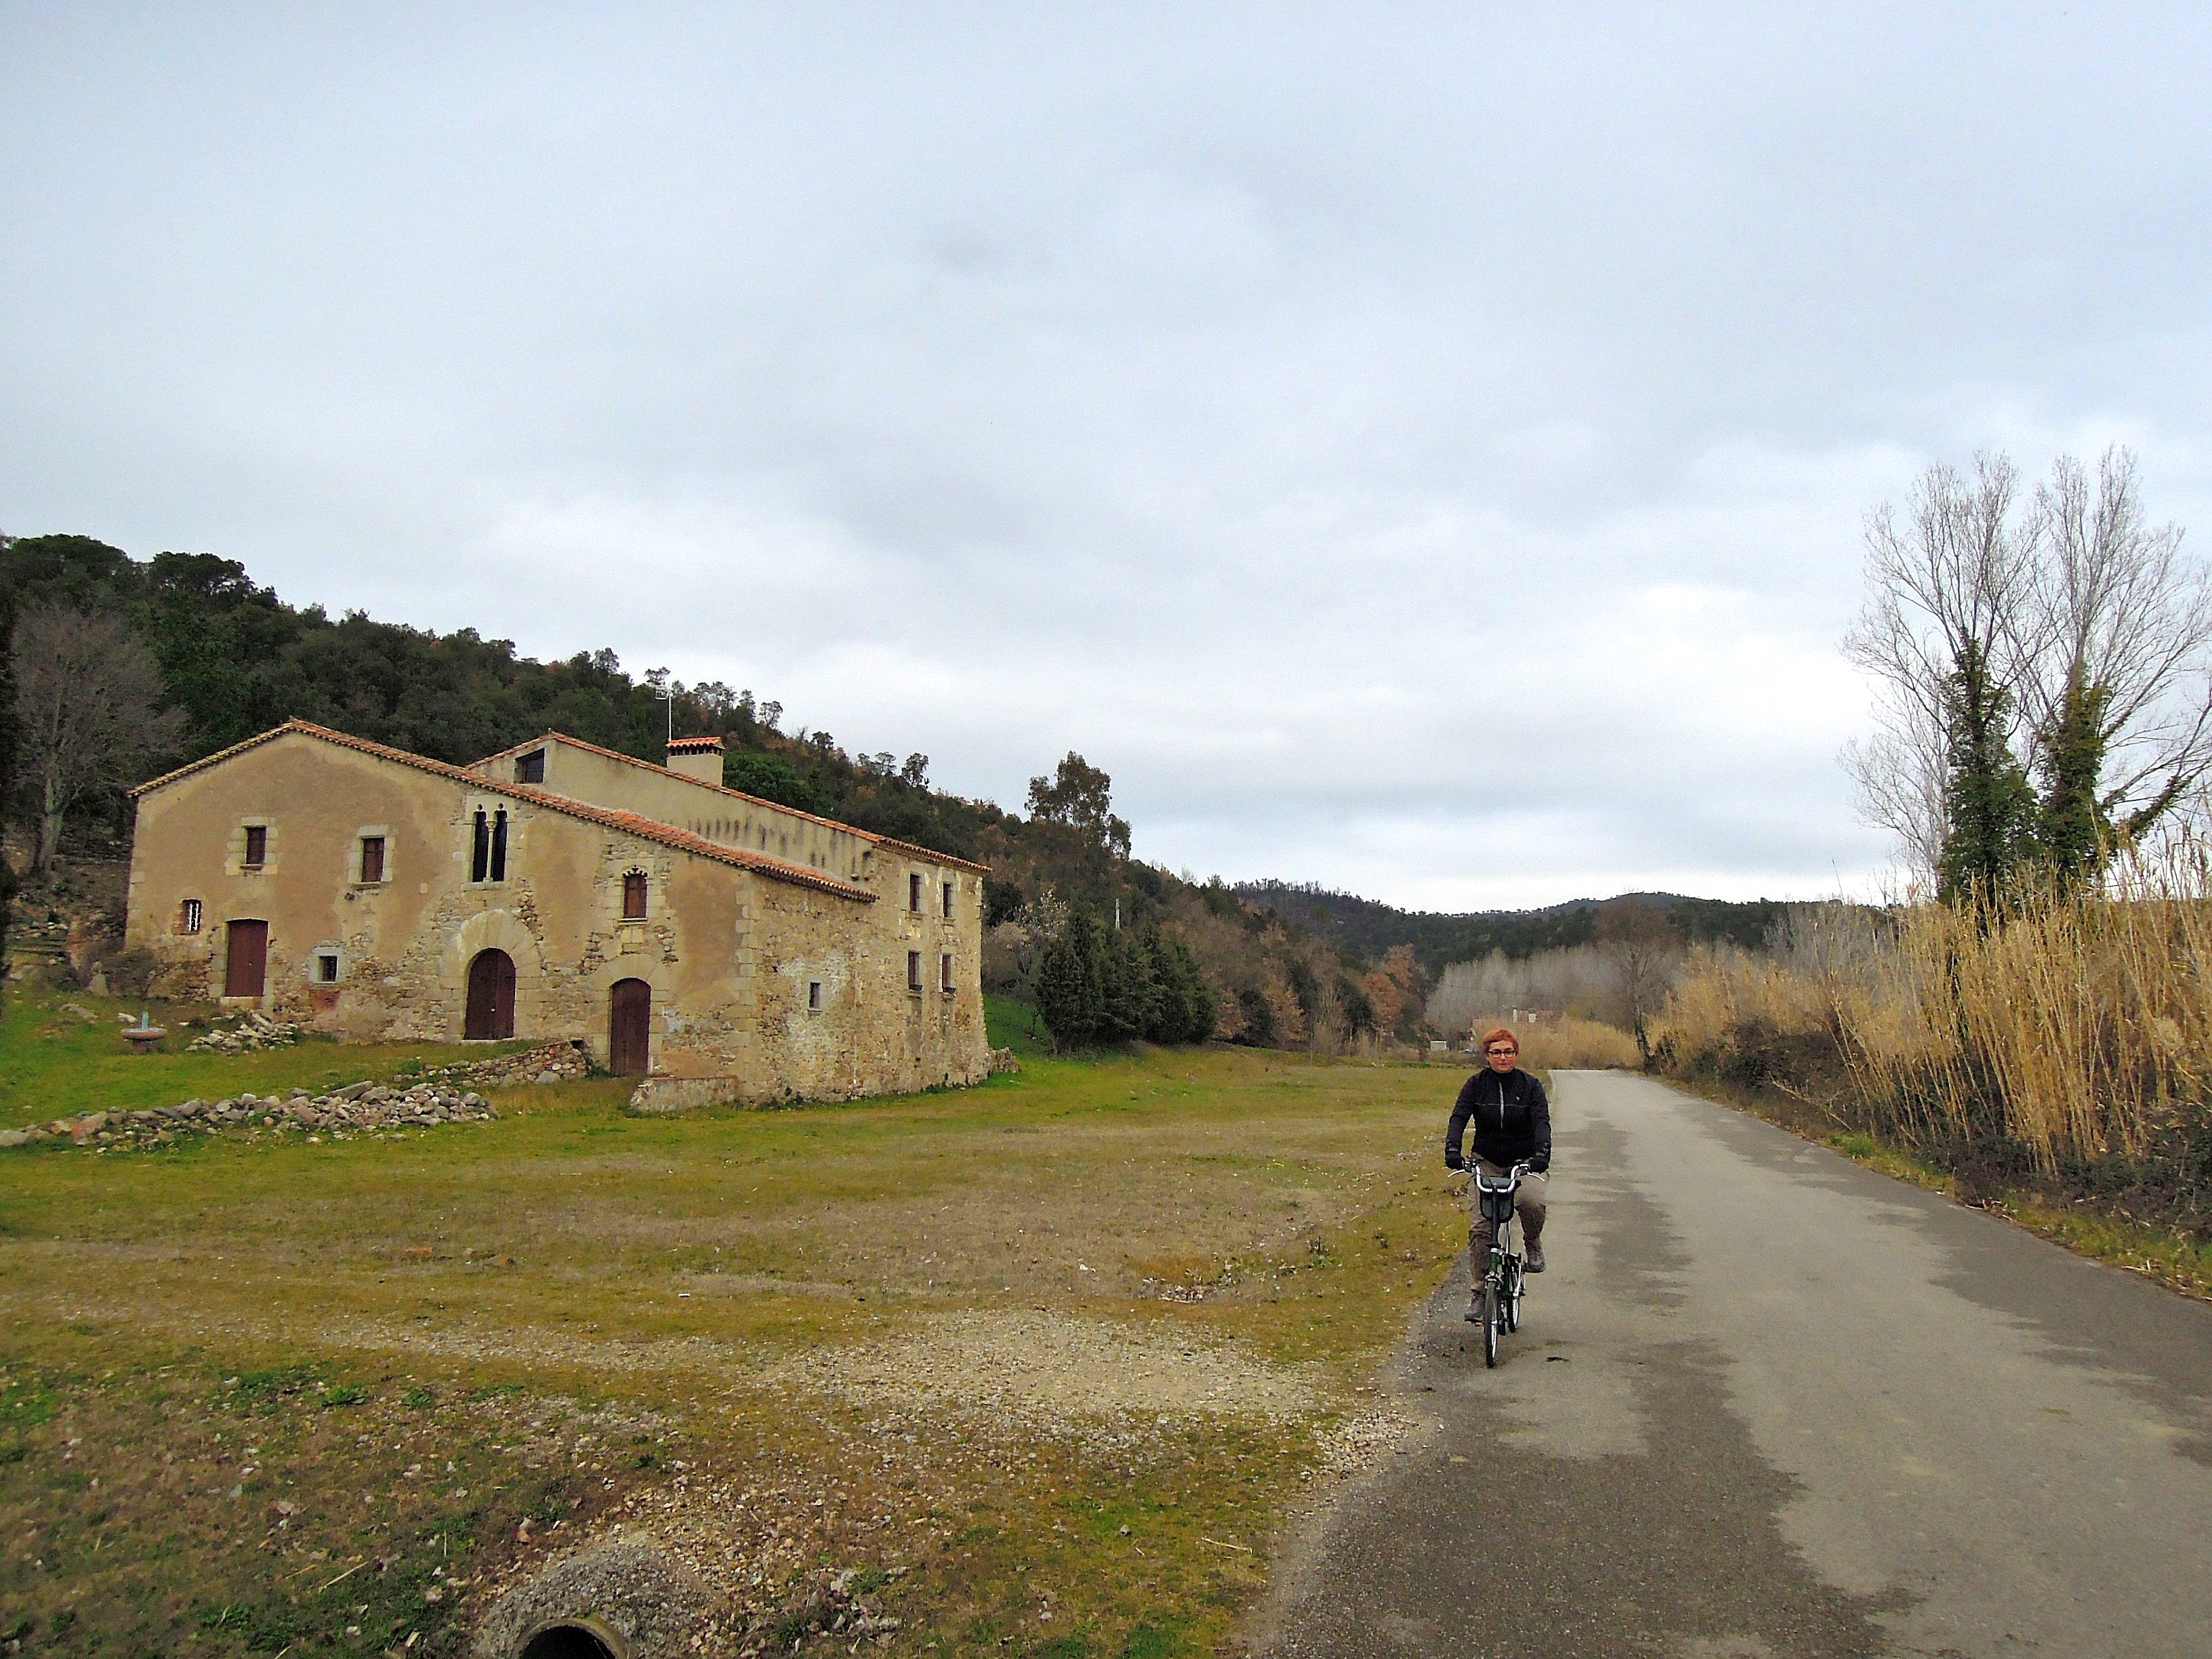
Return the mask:
M1413 956L1429 973L1491 951L1522 958L1568 945L1588 945L1597 918L1606 909L1639 900L1666 909L1690 940L1728 940L1745 947L1759 945L1774 920L1790 909L1781 898L1734 902L1683 894L1615 894L1613 898L1571 898L1564 905L1544 905L1542 909L1447 914L1398 909L1376 898L1338 894L1318 883L1245 880L1237 883L1232 891L1365 960L1383 956L1394 945L1411 945Z

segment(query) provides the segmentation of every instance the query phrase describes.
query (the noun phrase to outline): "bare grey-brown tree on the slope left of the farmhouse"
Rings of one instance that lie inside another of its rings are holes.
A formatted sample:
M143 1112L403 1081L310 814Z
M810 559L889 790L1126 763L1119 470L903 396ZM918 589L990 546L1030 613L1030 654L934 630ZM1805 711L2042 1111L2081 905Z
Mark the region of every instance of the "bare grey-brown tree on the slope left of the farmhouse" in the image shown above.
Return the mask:
M137 783L175 750L184 714L164 710L161 670L119 619L35 604L13 633L18 779L38 827L31 867L53 867L62 821L86 799Z

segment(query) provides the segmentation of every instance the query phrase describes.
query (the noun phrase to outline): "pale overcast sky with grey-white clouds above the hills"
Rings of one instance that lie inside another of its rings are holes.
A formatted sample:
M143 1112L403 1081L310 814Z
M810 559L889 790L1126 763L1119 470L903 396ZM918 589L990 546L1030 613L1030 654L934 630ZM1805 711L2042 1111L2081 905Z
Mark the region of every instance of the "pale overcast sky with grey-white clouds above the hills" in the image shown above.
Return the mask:
M0 529L1075 748L1199 876L1863 887L1865 509L2124 440L2212 533L2201 7L0 4Z

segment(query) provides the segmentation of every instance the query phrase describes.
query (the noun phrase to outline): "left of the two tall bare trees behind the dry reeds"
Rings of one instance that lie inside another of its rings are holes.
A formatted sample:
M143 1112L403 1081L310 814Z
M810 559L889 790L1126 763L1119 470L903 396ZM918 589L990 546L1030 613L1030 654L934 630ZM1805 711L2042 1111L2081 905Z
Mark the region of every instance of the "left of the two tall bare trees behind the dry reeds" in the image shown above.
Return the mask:
M2017 493L2013 462L1980 453L1971 480L1953 467L1929 467L1907 522L1889 502L1867 515L1867 604L1843 648L1880 688L1878 730L1845 748L1843 761L1860 812L1896 834L1907 860L1929 878L1947 834L1951 684L1962 664L1978 664L2004 690L2022 670L2013 624L2033 571L2013 529Z

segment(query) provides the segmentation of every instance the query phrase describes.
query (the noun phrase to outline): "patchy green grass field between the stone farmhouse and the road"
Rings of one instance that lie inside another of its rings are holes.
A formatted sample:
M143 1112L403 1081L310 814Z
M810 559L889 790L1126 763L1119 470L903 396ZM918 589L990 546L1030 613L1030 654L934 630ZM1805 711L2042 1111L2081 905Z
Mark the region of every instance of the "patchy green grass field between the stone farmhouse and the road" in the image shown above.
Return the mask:
M7 1015L18 1121L440 1057L150 1075L51 1020ZM878 1652L1217 1650L1464 1237L1458 1077L1055 1060L1004 1004L993 1037L1020 1075L849 1106L639 1119L595 1082L0 1152L0 1639L458 1655L630 1528L743 1615L852 1571Z

